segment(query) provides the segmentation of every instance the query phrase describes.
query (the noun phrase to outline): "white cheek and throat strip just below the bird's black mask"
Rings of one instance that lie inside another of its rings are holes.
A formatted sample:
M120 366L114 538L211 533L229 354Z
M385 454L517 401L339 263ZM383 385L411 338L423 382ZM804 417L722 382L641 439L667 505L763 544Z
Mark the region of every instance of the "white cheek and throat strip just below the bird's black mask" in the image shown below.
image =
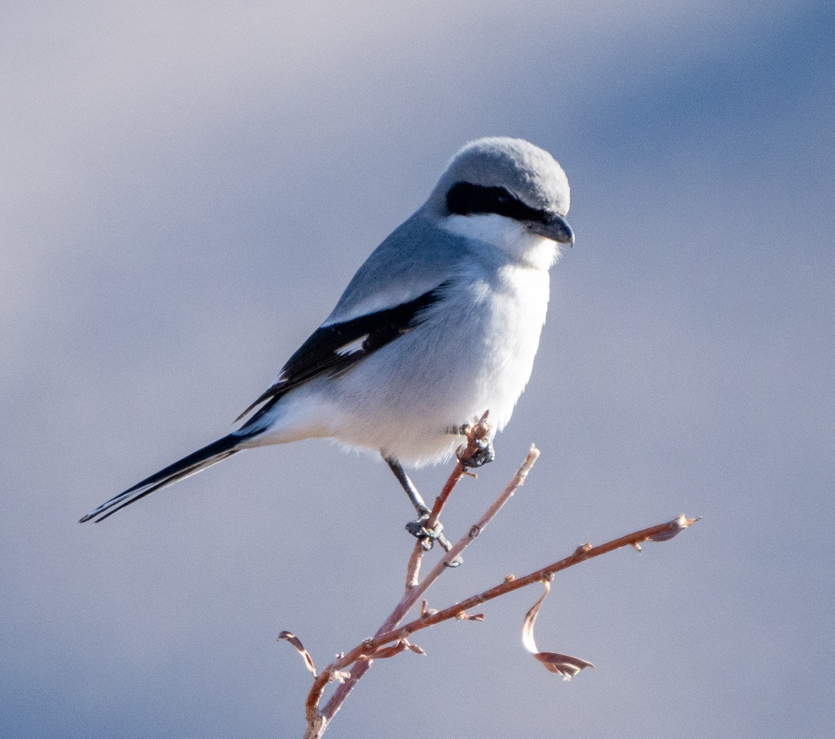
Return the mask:
M559 257L559 245L544 236L532 234L518 220L496 213L448 215L441 228L465 239L483 241L527 266L548 270Z

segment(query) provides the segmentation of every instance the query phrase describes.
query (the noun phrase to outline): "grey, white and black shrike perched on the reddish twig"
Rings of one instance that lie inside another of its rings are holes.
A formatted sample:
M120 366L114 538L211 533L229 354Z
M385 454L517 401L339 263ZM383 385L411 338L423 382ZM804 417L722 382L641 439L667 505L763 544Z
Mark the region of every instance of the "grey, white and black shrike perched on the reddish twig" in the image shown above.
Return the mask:
M438 463L487 410L508 423L530 377L549 267L573 244L569 183L522 139L478 139L428 200L373 251L330 316L237 420L237 431L145 478L86 515L101 521L244 449L334 438L377 450L417 509L403 465ZM473 466L493 458L491 444Z

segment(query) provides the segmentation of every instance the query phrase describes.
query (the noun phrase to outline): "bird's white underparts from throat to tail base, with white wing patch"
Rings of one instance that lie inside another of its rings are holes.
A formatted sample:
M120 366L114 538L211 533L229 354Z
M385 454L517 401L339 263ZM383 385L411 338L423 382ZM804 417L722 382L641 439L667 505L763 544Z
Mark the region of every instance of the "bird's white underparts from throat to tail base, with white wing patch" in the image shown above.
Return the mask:
M508 423L534 366L556 244L502 216L447 220L481 243L423 323L339 377L288 393L257 443L331 437L420 465L448 458L462 443L450 429L486 410L499 430Z

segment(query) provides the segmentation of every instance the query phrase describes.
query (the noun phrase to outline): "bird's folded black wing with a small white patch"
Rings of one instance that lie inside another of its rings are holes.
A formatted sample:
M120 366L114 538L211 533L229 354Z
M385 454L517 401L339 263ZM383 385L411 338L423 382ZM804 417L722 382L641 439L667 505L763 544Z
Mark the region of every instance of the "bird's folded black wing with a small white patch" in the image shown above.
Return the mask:
M261 418L294 387L299 387L320 375L345 372L369 354L377 352L377 349L382 349L397 337L411 331L423 320L423 311L441 299L444 287L446 283L399 306L316 329L282 367L276 382L235 418L235 421L240 421L253 408L266 402L266 405L250 419L249 423L252 423Z

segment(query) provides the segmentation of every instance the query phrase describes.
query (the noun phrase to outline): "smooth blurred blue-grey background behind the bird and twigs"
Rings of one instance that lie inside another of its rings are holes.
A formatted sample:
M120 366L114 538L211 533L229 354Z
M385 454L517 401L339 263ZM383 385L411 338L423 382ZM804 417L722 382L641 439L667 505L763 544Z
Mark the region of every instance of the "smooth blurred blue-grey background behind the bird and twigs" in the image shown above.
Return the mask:
M443 607L677 514L378 663L326 736L832 730L832 3L4 3L0 736L301 736L321 666L399 599L410 509L326 442L230 430L448 159L553 152L577 245ZM414 478L433 497L448 468Z

